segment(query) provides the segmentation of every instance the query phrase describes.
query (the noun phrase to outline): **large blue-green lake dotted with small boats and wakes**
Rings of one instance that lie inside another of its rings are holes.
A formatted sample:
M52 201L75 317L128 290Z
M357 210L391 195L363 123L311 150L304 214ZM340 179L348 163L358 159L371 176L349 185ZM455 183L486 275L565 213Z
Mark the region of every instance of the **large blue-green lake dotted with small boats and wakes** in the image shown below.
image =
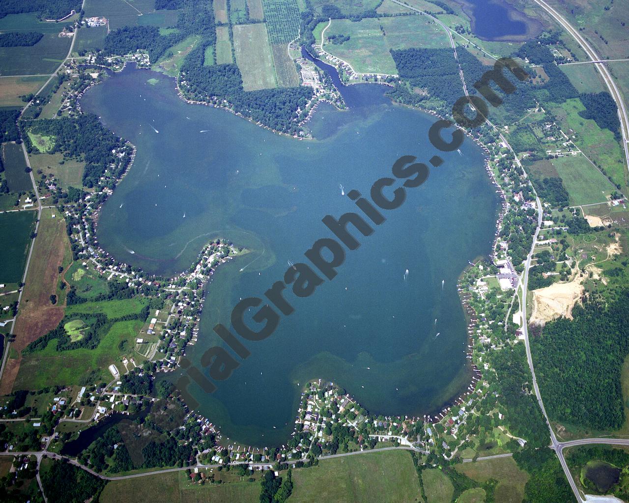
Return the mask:
M435 118L391 104L385 90L342 87L350 108L321 104L309 123L312 141L186 104L174 80L148 70L127 68L82 98L84 111L137 147L99 218L106 251L174 275L211 238L250 250L219 267L206 287L199 340L186 350L199 368L204 351L221 343L213 326L230 326L238 300L262 297L289 261L303 261L314 241L331 237L323 216L354 211L340 185L369 194L402 155L444 159L371 236L359 236L362 245L334 280L306 299L287 296L295 312L268 339L246 341L252 355L216 382L216 392L191 385L198 412L226 437L286 443L308 380L331 380L371 413L401 416L438 411L469 384L456 282L469 260L491 251L499 200L477 145L437 152L428 141Z

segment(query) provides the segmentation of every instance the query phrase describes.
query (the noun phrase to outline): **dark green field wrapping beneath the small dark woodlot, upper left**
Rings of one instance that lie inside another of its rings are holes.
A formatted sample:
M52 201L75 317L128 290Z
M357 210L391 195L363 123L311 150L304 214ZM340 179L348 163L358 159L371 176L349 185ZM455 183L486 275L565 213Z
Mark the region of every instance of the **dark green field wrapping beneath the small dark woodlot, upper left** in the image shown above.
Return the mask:
M32 47L0 47L0 74L52 74L65 59L70 43L67 36L45 33Z

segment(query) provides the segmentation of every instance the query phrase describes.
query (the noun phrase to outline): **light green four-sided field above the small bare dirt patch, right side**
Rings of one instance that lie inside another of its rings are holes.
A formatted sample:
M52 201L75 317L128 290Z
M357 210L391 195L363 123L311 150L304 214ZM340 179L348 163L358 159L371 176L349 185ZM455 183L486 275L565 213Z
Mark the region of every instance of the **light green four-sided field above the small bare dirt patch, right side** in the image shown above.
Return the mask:
M572 206L608 201L611 192L616 190L582 155L553 159L552 164L563 180Z

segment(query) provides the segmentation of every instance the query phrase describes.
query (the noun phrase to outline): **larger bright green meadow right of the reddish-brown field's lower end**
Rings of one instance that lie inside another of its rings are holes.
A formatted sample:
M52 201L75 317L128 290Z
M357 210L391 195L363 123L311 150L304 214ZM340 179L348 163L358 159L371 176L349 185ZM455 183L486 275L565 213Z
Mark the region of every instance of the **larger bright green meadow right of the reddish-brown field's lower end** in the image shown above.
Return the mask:
M51 385L78 385L111 379L108 367L120 368L119 346L127 341L133 347L142 321L118 321L111 326L94 349L80 348L57 351L57 341L51 341L42 351L24 355L15 380L16 389L40 389ZM123 367L124 370L124 367ZM95 375L91 375L92 371Z

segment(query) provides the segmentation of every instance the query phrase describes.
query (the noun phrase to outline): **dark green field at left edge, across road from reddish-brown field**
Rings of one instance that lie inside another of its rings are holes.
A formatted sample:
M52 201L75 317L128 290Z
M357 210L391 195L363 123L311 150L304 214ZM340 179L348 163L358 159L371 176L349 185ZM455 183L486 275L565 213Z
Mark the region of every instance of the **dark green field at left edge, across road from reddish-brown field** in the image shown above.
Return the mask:
M0 283L22 280L36 211L0 214Z

